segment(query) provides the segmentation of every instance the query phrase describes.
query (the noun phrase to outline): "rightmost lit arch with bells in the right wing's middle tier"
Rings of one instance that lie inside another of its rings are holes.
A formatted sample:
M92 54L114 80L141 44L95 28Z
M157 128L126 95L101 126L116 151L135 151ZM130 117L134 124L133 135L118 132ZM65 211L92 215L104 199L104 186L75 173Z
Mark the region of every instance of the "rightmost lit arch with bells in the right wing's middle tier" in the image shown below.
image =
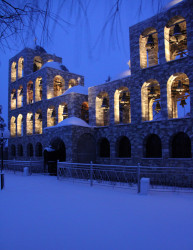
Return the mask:
M168 118L190 116L189 78L184 73L175 73L167 82Z

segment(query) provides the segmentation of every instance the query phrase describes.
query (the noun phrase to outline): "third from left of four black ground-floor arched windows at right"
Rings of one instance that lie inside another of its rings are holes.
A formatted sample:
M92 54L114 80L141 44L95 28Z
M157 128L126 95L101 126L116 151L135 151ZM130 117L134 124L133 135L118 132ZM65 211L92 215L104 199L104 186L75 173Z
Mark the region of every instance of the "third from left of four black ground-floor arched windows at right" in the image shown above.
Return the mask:
M158 135L151 134L146 138L145 157L146 158L161 158L162 144Z

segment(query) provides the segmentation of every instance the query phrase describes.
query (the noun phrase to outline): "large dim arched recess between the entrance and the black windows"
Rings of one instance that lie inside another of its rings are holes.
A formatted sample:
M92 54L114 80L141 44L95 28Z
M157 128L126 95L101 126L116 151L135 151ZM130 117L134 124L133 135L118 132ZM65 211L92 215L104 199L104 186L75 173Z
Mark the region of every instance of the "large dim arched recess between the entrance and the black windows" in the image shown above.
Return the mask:
M91 134L83 134L78 139L77 159L81 163L96 161L96 141Z

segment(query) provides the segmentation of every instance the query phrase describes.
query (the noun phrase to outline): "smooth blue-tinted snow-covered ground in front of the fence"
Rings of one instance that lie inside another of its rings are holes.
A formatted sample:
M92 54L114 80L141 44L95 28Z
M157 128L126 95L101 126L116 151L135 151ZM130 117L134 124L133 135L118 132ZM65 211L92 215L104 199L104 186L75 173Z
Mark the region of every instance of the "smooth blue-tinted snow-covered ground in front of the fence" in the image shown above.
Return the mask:
M193 249L193 193L136 191L5 174L1 250Z

